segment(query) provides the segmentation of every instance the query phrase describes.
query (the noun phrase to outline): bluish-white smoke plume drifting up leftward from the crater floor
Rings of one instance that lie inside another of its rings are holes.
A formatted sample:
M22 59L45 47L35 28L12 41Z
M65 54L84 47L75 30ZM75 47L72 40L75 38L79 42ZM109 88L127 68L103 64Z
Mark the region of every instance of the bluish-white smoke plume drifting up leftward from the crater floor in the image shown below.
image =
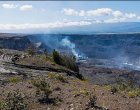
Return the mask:
M76 48L76 44L70 41L69 36L64 35L49 35L49 34L41 34L36 37L30 38L31 41L38 42L40 44L42 42L46 47L48 47L51 51L53 49L59 50L60 52L68 52L73 54L77 59L79 57L83 57L84 54L80 52Z

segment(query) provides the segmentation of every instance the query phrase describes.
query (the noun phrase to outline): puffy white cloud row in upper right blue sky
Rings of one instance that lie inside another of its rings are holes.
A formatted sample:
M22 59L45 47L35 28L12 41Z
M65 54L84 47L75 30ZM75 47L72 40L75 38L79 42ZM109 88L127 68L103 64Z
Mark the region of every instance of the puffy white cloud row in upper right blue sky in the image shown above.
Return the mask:
M135 13L125 13L119 10L113 10L111 8L98 8L95 10L74 10L71 8L65 8L63 9L63 13L65 15L75 15L79 17L105 17L107 16L108 18L103 21L106 22L123 22L125 20L130 20L132 18L139 20L140 16L136 15ZM100 20L99 20L100 21Z

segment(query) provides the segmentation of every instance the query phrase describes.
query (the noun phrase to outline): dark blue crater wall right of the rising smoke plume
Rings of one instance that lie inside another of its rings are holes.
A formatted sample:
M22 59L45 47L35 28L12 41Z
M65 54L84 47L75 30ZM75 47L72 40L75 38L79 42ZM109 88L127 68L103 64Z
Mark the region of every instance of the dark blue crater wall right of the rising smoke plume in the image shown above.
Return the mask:
M70 40L90 58L139 56L140 34L70 35Z

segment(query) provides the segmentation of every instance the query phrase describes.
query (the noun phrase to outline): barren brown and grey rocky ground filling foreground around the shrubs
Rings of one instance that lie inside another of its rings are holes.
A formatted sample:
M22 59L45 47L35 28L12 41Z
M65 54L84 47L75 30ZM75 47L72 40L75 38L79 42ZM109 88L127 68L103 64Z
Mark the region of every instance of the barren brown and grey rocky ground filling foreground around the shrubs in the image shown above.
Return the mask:
M119 78L126 80L133 78L134 84L139 85L138 71L81 64L79 65L80 74L86 78L81 80L75 75L69 76L69 72L75 73L67 68L50 61L44 63L43 57L38 60L38 57L29 56L14 64L11 62L13 55L24 56L24 52L1 49L0 54L1 110L5 110L3 103L6 103L4 101L7 94L17 90L24 99L22 104L26 105L28 110L140 110L139 94L128 94L132 90L127 91L126 89L114 92L111 86L116 84L116 80ZM49 102L41 100L42 95L37 95L37 87L32 81L38 81L38 78L44 79L50 85ZM92 96L97 98L92 100L94 106L90 105Z

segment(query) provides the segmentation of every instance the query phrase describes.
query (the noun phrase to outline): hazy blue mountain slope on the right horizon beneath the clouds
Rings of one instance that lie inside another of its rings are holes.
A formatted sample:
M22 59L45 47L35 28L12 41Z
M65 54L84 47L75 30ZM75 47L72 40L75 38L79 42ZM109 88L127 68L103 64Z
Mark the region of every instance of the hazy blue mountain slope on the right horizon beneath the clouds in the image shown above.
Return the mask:
M50 33L95 34L140 32L140 22L92 23L84 26L71 26L51 29Z

